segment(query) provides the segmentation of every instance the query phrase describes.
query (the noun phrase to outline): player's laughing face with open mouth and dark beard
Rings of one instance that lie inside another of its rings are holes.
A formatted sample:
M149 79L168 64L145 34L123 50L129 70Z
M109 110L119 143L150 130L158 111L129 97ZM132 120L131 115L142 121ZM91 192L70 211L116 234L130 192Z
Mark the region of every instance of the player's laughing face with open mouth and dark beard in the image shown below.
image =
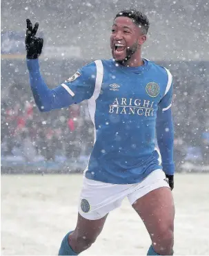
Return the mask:
M110 35L112 57L118 62L127 62L132 57L137 57L135 55L145 41L141 40L141 36L139 26L135 25L132 19L117 17L112 25L112 34ZM143 35L143 37L146 36Z

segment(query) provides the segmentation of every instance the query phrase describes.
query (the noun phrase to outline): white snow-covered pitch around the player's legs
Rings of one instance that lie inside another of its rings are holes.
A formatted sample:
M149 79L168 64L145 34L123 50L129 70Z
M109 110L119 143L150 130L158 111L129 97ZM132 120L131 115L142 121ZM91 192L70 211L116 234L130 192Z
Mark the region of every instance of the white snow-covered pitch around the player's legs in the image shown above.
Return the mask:
M82 176L2 175L1 255L57 255L77 221ZM209 255L209 174L175 176L175 255ZM81 255L146 255L150 238L127 200Z

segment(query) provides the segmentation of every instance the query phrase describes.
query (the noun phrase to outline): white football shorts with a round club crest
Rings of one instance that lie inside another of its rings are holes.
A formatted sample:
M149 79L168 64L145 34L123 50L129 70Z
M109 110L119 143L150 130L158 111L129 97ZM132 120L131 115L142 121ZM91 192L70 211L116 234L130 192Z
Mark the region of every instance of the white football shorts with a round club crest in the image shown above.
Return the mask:
M120 207L126 196L132 205L141 196L161 187L169 188L169 185L165 173L160 169L151 172L146 179L135 184L103 183L83 176L79 214L85 219L101 219L110 211Z

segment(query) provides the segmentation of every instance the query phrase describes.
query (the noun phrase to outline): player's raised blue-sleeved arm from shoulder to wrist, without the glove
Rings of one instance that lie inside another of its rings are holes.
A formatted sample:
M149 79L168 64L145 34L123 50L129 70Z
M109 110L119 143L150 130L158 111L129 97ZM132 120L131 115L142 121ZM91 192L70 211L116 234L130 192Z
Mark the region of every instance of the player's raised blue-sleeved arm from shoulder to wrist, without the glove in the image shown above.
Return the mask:
M27 65L30 76L30 88L34 101L40 111L68 107L70 104L89 99L94 92L94 77L96 77L96 66L94 63L84 66L72 76L71 81L68 82L66 80L55 89L49 89L44 82L39 71L38 59L27 59Z

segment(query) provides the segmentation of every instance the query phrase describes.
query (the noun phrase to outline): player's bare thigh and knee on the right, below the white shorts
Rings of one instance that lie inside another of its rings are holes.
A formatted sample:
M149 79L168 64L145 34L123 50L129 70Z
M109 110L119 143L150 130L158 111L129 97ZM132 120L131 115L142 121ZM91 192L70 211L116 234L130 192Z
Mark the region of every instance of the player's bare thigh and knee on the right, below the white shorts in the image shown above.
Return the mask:
M152 190L137 199L132 207L143 220L157 253L170 255L175 218L175 204L170 188ZM164 251L161 251L162 248Z

